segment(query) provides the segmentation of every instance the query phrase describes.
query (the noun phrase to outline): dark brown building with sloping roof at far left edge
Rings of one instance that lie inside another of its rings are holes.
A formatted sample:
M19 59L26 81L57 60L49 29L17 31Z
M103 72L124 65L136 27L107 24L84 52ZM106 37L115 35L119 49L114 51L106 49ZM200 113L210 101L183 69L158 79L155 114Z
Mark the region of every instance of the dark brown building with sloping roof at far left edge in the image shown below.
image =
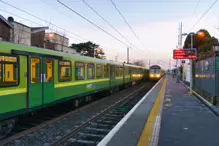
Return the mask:
M8 21L2 15L0 15L0 40L10 41L11 29L12 25L8 23Z

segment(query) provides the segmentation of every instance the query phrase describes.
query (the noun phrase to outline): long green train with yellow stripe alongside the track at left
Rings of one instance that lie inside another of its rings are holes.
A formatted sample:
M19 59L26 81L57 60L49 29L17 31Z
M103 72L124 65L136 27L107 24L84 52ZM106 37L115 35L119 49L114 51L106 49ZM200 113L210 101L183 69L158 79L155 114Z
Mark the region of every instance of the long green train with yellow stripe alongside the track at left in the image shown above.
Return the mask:
M147 77L139 66L0 42L0 130L19 115Z

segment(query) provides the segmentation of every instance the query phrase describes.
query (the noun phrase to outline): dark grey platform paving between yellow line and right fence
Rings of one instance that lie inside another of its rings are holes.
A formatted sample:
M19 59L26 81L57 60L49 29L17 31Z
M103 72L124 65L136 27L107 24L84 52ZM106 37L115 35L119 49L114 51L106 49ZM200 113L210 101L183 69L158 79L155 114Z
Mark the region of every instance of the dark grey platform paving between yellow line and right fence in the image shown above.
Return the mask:
M166 94L159 146L219 146L219 117L170 76Z

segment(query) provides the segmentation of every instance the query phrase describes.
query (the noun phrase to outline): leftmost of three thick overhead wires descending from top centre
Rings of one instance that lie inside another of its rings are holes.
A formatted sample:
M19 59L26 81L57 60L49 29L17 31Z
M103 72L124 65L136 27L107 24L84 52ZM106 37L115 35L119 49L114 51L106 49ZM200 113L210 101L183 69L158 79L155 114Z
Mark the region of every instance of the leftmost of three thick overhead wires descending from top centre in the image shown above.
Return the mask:
M72 8L68 7L67 5L65 5L63 2L61 2L60 0L57 0L57 2L59 2L61 5L63 5L64 7L68 8L69 10L71 10L72 12L74 12L75 14L77 14L78 16L80 16L81 18L83 18L84 20L88 21L89 23L91 23L92 25L94 25L95 27L97 27L98 29L102 30L104 33L108 34L109 36L111 36L112 38L114 38L115 40L119 41L120 43L124 44L126 47L128 47L129 45L127 45L126 43L124 43L123 41L121 41L120 39L118 39L117 37L113 36L112 34L110 34L109 32L107 32L106 30L104 30L103 28L101 28L100 26L98 26L97 24L95 24L94 22L90 21L89 19L87 19L86 17L82 16L80 13L76 12L75 10L73 10Z

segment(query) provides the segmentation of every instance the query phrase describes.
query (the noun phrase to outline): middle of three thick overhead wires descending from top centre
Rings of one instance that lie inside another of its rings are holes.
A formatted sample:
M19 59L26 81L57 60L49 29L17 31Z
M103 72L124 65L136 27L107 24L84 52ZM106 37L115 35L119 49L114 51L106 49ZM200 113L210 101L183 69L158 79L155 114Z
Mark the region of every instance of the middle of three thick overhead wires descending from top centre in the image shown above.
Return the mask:
M133 45L121 32L119 32L111 23L109 23L103 16L101 16L92 6L90 6L85 0L82 0L85 5L87 5L93 12L95 12L103 21L105 21L113 30L115 30L121 37L123 37L126 41L130 43L130 45L136 47Z

